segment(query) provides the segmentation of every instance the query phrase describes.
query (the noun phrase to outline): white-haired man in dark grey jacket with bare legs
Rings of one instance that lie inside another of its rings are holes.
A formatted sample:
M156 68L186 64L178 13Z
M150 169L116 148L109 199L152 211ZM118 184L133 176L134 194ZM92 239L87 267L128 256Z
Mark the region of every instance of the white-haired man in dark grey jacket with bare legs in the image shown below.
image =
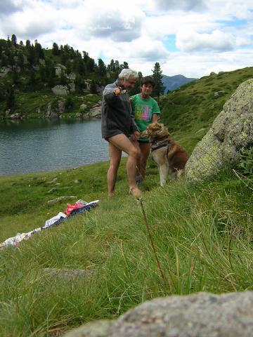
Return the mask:
M129 180L129 191L135 197L141 197L141 191L136 185L136 164L140 157L138 138L140 133L133 117L128 88L133 88L138 74L131 69L124 69L119 79L105 86L102 98L101 130L102 137L108 141L110 167L108 170L108 195L112 197L115 191L117 170L119 169L122 151L128 154L126 173Z

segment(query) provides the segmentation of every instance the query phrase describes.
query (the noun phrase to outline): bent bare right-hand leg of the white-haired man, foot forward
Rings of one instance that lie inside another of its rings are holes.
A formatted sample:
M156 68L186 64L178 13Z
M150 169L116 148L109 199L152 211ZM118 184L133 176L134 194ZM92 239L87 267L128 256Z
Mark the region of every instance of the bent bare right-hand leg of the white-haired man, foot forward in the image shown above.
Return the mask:
M135 181L136 164L140 156L138 144L136 144L137 142L134 140L131 142L123 133L108 138L108 141L119 150L123 150L126 154L128 154L129 157L126 162L126 173L129 180L129 189L133 194L141 194L141 191L138 189Z

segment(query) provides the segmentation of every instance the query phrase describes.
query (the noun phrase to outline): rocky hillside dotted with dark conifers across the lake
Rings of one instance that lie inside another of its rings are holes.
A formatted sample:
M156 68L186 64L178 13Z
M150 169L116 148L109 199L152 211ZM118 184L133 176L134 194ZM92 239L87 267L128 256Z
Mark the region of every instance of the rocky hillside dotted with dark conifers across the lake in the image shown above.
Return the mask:
M37 40L18 44L15 35L0 39L0 119L89 117L103 86L126 67L96 62L68 45L48 49Z

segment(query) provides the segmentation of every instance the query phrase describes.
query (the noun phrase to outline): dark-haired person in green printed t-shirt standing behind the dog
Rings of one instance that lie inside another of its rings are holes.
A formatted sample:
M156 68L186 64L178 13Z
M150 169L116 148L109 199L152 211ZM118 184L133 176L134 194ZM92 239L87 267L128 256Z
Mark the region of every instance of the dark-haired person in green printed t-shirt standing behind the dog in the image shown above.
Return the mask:
M140 132L144 131L150 123L157 123L160 108L157 101L150 97L155 81L153 77L145 76L141 79L141 93L131 96L132 114ZM145 166L150 154L150 143L148 138L138 139L141 150L141 159L137 164L138 176L136 182L140 183L145 177Z

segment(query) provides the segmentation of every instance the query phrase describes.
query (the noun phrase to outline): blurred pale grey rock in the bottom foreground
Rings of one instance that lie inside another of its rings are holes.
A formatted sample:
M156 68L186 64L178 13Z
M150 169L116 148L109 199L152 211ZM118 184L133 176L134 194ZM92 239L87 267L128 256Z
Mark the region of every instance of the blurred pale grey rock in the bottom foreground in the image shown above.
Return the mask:
M85 324L66 337L251 337L253 292L196 293L150 300L112 321Z

